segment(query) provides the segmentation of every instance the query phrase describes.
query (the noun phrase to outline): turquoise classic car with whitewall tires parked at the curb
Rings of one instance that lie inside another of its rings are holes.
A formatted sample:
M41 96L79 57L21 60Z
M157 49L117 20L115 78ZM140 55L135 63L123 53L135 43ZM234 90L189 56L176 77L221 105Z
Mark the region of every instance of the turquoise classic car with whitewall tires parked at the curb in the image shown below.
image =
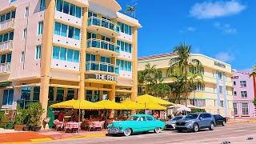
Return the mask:
M155 119L152 115L136 114L131 115L126 121L116 121L108 126L108 134L130 134L148 132L154 130L160 133L165 128L165 122Z

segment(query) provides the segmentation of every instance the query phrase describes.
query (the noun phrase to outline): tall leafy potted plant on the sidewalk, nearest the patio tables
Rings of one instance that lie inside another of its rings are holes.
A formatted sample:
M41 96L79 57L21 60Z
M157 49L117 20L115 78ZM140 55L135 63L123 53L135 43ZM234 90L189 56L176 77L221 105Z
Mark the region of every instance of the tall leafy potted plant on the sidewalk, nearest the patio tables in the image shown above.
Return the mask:
M31 130L39 131L41 130L42 126L42 113L44 110L42 109L42 105L39 102L31 103L28 108L28 125L30 126Z

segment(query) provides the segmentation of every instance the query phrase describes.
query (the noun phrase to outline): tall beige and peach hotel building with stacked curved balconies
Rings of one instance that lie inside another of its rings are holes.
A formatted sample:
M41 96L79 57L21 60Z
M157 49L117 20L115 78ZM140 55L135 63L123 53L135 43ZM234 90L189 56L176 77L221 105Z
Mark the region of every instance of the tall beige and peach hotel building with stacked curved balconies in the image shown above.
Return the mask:
M119 10L115 0L1 0L0 108L135 100L142 26Z

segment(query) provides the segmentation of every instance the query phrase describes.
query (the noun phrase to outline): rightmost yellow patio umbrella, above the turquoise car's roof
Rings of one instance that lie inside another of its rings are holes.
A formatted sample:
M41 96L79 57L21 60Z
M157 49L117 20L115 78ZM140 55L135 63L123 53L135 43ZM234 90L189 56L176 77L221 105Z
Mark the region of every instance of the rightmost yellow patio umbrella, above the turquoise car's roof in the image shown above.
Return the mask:
M156 98L156 97L154 97L152 95L149 95L149 94L144 94L142 96L138 96L137 102L138 103L152 102L152 103L158 103L160 105L175 105L172 102L165 101L165 100L163 100L161 98Z

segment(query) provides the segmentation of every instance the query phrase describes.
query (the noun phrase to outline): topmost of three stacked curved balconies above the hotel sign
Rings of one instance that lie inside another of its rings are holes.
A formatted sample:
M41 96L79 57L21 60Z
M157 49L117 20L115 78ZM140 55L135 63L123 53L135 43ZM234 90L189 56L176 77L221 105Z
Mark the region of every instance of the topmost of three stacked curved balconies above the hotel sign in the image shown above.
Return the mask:
M88 18L88 30L110 37L118 37L120 26L118 26L117 23L111 22L107 19L90 17Z

